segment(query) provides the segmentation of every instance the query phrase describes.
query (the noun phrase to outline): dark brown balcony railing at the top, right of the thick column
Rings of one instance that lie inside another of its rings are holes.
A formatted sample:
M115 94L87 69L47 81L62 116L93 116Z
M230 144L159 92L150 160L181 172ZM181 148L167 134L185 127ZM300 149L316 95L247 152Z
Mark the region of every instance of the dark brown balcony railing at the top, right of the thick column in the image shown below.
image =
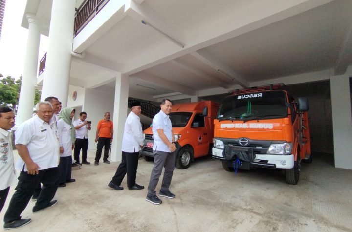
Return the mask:
M76 36L109 0L85 0L76 10L74 36Z

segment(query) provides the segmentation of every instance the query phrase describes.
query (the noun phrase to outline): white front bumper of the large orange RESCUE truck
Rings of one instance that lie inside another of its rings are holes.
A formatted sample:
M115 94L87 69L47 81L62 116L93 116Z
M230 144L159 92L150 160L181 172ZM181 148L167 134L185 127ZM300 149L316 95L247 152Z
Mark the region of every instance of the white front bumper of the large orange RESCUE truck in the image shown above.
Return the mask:
M213 148L213 158L225 161L225 158L223 157L223 149ZM249 168L260 167L267 169L292 169L294 166L294 155L256 154L256 158L253 162L242 163L248 163L246 165L243 164L242 166Z

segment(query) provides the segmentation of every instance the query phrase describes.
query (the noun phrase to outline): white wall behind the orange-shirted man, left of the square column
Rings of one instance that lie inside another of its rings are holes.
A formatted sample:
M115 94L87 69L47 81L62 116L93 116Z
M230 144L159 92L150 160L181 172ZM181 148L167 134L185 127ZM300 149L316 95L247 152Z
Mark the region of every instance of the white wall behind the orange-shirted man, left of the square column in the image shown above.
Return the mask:
M83 111L87 113L87 120L92 121L91 130L88 131L88 149L96 149L94 142L98 121L104 118L105 112L110 112L113 118L114 93L86 89ZM116 133L116 131L114 131ZM104 151L103 151L104 152Z

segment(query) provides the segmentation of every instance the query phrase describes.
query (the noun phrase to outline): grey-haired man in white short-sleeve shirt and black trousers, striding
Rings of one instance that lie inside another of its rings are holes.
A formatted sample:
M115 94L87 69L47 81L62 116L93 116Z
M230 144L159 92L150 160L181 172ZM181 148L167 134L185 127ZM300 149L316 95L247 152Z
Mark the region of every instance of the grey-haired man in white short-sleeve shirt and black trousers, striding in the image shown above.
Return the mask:
M36 105L37 116L25 121L15 132L19 153L16 168L20 169L19 182L4 216L4 229L19 227L17 222L39 183L43 184L33 212L57 203L51 201L59 186L60 171L58 134L49 102Z

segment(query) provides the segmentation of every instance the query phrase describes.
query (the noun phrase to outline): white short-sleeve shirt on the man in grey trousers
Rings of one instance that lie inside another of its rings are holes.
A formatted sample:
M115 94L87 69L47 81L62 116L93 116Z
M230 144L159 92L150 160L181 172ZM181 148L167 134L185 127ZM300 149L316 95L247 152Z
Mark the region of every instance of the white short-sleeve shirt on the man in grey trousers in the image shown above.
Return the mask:
M167 146L159 137L157 133L158 129L163 129L164 134L170 141L172 142L172 124L169 118L169 115L165 114L162 110L159 113L155 114L153 118L153 150L164 151L164 152L171 152L169 146Z

